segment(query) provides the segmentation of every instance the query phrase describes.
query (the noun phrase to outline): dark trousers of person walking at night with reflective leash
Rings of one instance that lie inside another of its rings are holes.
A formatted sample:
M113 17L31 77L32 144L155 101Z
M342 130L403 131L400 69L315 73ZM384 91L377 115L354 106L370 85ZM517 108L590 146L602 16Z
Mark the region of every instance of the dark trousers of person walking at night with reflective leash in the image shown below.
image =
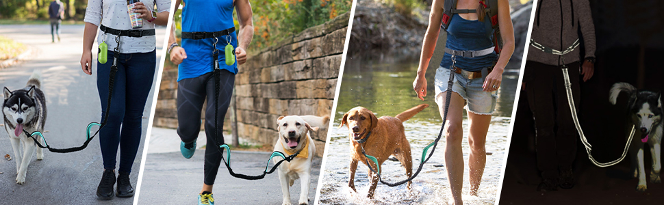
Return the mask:
M574 104L578 107L579 63L567 66ZM560 66L526 61L524 83L537 130L537 168L543 178L558 178L559 169L572 168L576 157L576 126L567 102L563 72Z

